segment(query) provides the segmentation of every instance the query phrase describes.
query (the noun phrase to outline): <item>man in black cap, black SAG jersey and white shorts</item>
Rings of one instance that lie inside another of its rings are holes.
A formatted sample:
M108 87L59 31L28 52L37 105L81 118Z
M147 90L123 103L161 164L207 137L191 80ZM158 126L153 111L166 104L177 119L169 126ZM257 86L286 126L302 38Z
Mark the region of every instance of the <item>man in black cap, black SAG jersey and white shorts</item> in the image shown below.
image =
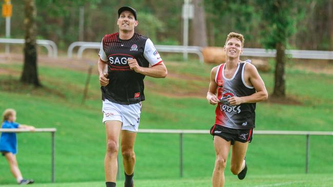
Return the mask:
M107 187L116 186L119 135L125 171L125 187L134 186L134 142L138 131L144 77L165 78L166 67L153 42L134 32L136 10L118 10L119 33L103 37L98 73L102 92L103 123L107 133L105 178Z

